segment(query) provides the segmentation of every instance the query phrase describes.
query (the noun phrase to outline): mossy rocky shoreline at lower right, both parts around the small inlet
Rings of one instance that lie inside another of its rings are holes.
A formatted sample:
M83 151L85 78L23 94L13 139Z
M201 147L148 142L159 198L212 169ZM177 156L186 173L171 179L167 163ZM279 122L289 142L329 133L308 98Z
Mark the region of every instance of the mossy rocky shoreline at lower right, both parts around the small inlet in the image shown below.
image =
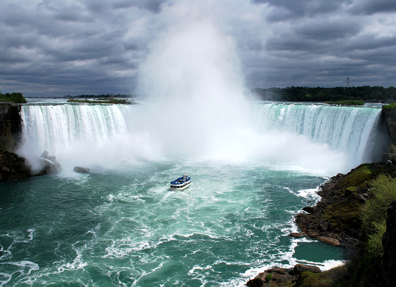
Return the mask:
M295 216L299 233L291 237L310 237L329 244L350 247L359 241L361 220L359 214L370 198L367 182L380 173L394 171L385 163L361 164L346 175L338 174L321 185L320 201L304 207ZM353 276L355 266L346 264L325 272L316 266L297 264L293 269L274 267L259 273L247 282L248 287L303 287L335 286Z

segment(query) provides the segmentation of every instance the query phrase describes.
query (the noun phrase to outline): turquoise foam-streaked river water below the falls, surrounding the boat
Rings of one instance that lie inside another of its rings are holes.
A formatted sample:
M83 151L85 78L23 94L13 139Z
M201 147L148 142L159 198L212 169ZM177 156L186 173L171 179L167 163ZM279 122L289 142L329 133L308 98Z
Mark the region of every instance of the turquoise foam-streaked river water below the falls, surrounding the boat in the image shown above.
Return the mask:
M270 166L168 159L1 183L0 285L243 286L264 267L342 259L288 236L325 179ZM192 186L170 191L183 173Z

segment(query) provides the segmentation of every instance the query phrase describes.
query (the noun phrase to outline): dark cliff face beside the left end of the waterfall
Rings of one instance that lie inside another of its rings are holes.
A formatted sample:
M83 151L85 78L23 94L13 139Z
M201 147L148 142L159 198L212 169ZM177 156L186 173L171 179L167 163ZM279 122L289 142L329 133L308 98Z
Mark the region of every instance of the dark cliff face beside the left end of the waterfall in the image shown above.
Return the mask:
M19 105L0 103L0 150L15 151L22 131L20 110Z

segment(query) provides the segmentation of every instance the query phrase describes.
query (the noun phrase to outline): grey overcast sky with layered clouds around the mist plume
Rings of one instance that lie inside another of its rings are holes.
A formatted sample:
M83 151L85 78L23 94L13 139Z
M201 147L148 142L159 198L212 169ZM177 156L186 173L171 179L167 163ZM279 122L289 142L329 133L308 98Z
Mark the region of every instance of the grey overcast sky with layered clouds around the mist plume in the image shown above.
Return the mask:
M192 22L232 39L247 89L396 86L396 0L1 0L0 92L136 93Z

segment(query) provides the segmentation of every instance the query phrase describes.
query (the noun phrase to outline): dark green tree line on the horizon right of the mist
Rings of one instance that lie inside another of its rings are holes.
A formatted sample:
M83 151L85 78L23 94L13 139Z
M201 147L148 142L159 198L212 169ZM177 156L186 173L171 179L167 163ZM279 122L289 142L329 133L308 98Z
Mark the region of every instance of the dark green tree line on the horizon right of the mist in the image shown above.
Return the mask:
M253 95L261 100L279 101L340 101L340 100L364 100L386 101L396 99L395 87L335 87L335 88L309 88L309 87L286 87L286 88L255 88L251 90Z

